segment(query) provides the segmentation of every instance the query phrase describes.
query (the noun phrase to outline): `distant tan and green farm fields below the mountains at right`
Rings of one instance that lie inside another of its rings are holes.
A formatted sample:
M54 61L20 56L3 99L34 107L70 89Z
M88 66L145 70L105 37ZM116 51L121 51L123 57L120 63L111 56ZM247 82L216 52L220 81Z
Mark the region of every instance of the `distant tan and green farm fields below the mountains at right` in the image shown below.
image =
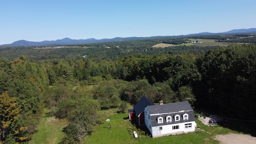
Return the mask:
M169 47L169 46L229 46L231 44L243 44L243 43L231 43L231 42L215 42L215 40L213 39L195 39L195 38L188 38L187 44L179 44L179 45L175 45L175 44L164 44L164 43L160 43L160 44L156 44L153 47ZM189 42L196 42L196 40L198 40L198 42L202 42L202 43L189 43Z

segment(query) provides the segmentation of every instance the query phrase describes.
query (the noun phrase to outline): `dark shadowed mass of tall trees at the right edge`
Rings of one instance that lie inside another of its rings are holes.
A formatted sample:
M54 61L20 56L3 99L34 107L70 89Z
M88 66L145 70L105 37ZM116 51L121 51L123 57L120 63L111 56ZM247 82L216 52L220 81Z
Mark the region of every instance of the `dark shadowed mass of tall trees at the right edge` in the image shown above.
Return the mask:
M255 120L256 47L232 45L209 50L196 60L202 75L193 86L199 106L241 120Z

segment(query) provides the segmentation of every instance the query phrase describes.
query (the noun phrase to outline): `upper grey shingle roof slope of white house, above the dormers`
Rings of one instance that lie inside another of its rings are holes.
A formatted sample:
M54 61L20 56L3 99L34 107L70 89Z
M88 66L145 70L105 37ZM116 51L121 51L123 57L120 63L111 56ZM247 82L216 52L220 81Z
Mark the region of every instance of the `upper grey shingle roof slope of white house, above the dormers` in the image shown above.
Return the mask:
M150 114L164 114L171 112L180 112L182 110L189 111L193 109L188 101L148 106L148 111Z

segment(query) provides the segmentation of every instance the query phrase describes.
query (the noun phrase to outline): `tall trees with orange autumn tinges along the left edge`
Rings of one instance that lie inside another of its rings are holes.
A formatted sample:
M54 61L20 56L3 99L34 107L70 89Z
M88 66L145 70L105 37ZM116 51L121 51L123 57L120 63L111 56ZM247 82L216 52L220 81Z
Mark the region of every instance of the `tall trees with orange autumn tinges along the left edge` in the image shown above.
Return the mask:
M46 69L27 56L0 59L0 139L7 143L30 139L40 114L41 92L48 86ZM11 110L11 111L10 111Z

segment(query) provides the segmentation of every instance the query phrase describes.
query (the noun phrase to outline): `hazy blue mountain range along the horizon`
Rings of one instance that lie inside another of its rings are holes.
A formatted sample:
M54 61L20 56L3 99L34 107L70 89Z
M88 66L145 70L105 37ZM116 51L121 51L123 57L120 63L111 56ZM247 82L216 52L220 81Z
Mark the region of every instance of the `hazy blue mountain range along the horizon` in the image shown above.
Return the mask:
M188 35L180 35L180 36L151 36L151 37L129 37L129 38L111 38L111 39L101 39L96 40L94 38L89 38L86 40L72 40L70 38L63 38L61 40L45 40L42 42L30 42L26 40L18 40L13 42L12 44L3 44L0 46L58 46L58 45L66 45L66 44L90 44L90 43L98 43L98 42L118 42L118 41L128 41L128 40L147 40L147 39L157 39L157 38L180 38L180 37L188 37L188 36L203 36L203 35L217 35L217 34L254 34L256 33L256 28L249 29L238 29L238 30L230 30L228 32L220 32L220 33L211 33L211 32L201 32L198 34L188 34Z

